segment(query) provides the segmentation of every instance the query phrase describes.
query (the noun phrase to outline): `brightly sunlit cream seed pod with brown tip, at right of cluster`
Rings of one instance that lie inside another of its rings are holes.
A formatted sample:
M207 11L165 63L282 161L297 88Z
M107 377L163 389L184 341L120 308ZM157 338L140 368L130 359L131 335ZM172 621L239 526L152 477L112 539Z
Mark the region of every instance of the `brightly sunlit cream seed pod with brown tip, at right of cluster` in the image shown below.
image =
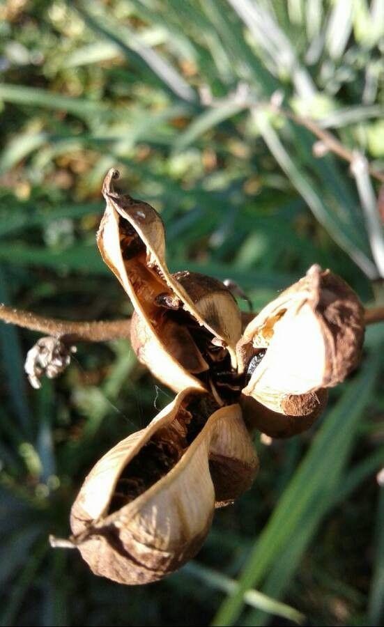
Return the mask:
M333 387L360 360L364 310L353 290L329 270L307 275L268 304L238 343L240 370L266 349L243 394L286 413L286 397Z

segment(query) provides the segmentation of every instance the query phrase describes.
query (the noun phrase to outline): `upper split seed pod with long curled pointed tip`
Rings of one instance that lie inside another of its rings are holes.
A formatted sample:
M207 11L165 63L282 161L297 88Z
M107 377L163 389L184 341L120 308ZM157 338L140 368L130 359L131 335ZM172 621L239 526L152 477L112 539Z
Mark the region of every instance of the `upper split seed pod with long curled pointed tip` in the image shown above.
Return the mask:
M160 216L147 203L116 194L112 179L117 176L112 170L105 178L107 208L98 246L135 307L132 346L141 362L176 391L191 385L204 389L195 375L206 371L208 364L195 336L202 327L208 343L216 341L226 348L235 369L242 325L236 301L220 281L192 272L169 272ZM175 333L181 346L176 346Z

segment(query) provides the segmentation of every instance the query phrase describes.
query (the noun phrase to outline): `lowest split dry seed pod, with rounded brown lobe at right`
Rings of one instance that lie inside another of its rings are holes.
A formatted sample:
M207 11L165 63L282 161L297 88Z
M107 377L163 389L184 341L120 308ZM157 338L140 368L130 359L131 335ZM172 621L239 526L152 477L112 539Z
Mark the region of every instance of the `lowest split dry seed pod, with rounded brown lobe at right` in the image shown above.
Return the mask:
M93 467L72 506L72 543L95 574L158 580L197 553L215 501L233 500L256 470L239 405L217 409L186 389Z

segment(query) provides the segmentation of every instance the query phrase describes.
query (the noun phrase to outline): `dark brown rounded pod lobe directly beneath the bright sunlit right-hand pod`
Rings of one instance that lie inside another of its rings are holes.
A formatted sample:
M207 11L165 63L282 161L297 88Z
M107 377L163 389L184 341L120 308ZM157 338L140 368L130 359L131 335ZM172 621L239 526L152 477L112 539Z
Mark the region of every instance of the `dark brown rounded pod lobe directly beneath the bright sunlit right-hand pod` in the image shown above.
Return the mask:
M240 406L249 430L259 429L270 438L291 438L307 431L314 424L325 409L327 401L328 390L318 389L300 396L285 396L279 412L270 410L245 394L240 398Z

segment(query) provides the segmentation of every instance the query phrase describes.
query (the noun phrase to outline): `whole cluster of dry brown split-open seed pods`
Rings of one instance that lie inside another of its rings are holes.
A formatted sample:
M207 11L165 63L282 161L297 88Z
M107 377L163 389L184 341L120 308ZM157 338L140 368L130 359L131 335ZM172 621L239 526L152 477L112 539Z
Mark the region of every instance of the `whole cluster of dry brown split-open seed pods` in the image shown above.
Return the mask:
M364 320L351 288L314 265L242 333L224 284L169 272L160 216L115 192L117 177L103 185L98 246L135 307L137 356L178 394L91 470L69 543L94 573L140 584L193 557L215 506L249 488L258 461L248 428L287 437L313 424L326 388L358 364Z

